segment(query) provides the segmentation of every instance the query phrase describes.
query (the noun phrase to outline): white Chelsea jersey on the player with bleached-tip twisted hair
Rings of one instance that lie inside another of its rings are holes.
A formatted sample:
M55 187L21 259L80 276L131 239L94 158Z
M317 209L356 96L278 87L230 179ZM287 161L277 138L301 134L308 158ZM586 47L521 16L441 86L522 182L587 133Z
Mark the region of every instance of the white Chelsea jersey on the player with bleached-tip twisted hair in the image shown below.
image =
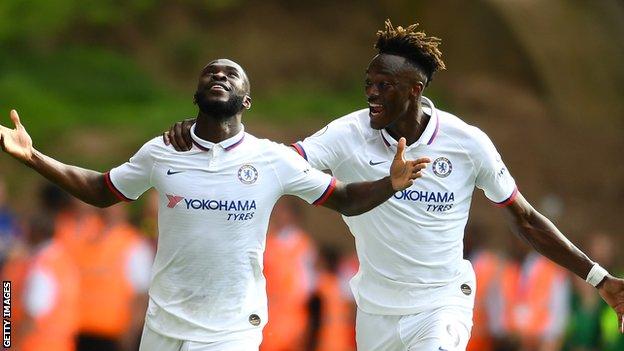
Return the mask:
M472 303L474 271L463 260L462 239L473 190L482 189L501 205L517 194L485 133L436 109L427 98L422 102L430 119L420 139L405 149L405 158L431 158L423 177L371 211L343 217L360 260L352 291L368 313L412 314ZM365 109L293 146L313 167L354 182L387 175L397 141L385 129L372 129Z

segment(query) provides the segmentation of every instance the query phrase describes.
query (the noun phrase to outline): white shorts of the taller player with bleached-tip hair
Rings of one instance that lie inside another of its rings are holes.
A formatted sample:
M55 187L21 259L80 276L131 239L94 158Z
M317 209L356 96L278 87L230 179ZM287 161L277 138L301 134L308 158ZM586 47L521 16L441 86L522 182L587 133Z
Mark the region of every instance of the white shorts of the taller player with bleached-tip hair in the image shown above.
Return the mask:
M357 349L362 351L464 351L472 329L472 308L444 306L405 316L366 313L358 308Z

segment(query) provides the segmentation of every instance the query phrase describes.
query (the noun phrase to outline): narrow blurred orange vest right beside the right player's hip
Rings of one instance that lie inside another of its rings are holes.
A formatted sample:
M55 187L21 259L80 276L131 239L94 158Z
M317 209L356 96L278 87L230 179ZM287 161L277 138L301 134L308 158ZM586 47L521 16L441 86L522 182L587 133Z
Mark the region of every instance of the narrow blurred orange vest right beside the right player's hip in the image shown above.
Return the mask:
M489 311L487 310L488 292L493 284L498 284L505 262L488 251L480 252L473 260L477 276L477 293L472 320L472 334L466 348L467 351L491 351L494 347L493 337L490 334Z

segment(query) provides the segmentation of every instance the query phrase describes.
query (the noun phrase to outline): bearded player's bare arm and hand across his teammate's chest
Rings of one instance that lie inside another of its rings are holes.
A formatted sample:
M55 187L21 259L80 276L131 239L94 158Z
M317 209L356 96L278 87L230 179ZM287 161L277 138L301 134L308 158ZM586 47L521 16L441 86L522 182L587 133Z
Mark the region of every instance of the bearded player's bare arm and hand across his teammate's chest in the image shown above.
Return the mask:
M407 161L404 152L405 138L401 138L390 166L390 176L372 182L350 184L337 182L334 192L323 206L345 216L355 216L372 210L397 191L409 188L415 179L422 177L422 170L431 160L423 157Z

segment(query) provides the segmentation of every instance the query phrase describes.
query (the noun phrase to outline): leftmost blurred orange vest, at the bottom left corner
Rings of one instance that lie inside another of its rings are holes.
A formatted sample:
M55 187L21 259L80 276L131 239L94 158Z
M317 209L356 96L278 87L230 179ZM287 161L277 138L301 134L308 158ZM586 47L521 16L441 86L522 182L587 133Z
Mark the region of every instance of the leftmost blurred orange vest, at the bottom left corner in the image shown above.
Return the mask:
M65 248L51 242L33 259L31 272L45 271L56 283L54 305L33 318L33 328L24 336L22 351L73 351L78 327L78 272Z

